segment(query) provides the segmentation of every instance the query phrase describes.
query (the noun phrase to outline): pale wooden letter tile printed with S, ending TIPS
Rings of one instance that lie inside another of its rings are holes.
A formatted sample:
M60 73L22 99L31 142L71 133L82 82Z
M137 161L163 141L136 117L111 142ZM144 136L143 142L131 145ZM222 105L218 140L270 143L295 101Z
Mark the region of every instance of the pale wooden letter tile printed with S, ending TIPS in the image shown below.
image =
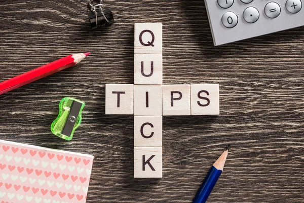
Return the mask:
M218 84L191 85L191 115L219 115Z

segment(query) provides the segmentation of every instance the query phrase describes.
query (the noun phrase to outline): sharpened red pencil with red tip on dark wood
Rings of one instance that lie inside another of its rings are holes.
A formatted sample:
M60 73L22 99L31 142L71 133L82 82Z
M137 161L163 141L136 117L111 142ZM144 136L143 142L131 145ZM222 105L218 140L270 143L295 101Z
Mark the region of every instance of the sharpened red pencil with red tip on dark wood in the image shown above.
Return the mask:
M72 54L0 83L0 95L79 63L90 53Z

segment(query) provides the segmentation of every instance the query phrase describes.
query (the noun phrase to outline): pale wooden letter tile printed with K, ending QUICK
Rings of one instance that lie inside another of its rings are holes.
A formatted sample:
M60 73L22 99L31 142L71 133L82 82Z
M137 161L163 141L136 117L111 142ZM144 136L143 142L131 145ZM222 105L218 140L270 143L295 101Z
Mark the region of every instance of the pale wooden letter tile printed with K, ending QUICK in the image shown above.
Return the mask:
M134 178L162 177L162 147L134 147Z

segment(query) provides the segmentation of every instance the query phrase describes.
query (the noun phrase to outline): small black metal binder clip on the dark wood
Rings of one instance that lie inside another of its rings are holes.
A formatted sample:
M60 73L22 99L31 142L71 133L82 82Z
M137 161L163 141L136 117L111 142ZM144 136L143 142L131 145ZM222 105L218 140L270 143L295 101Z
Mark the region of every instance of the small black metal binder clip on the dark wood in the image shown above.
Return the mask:
M99 4L95 5L93 5L93 2L96 2L96 0L89 1L89 5L91 7L91 12L89 13L91 28L96 29L98 27L103 27L105 25L114 23L112 11L103 6L102 0L97 1Z

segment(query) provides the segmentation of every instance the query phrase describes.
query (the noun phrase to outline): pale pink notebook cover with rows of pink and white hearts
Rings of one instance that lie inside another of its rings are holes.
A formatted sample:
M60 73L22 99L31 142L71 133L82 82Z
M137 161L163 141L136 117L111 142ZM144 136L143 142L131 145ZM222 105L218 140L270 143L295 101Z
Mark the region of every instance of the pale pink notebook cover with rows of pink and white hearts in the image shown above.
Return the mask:
M85 203L93 159L0 140L0 203Z

